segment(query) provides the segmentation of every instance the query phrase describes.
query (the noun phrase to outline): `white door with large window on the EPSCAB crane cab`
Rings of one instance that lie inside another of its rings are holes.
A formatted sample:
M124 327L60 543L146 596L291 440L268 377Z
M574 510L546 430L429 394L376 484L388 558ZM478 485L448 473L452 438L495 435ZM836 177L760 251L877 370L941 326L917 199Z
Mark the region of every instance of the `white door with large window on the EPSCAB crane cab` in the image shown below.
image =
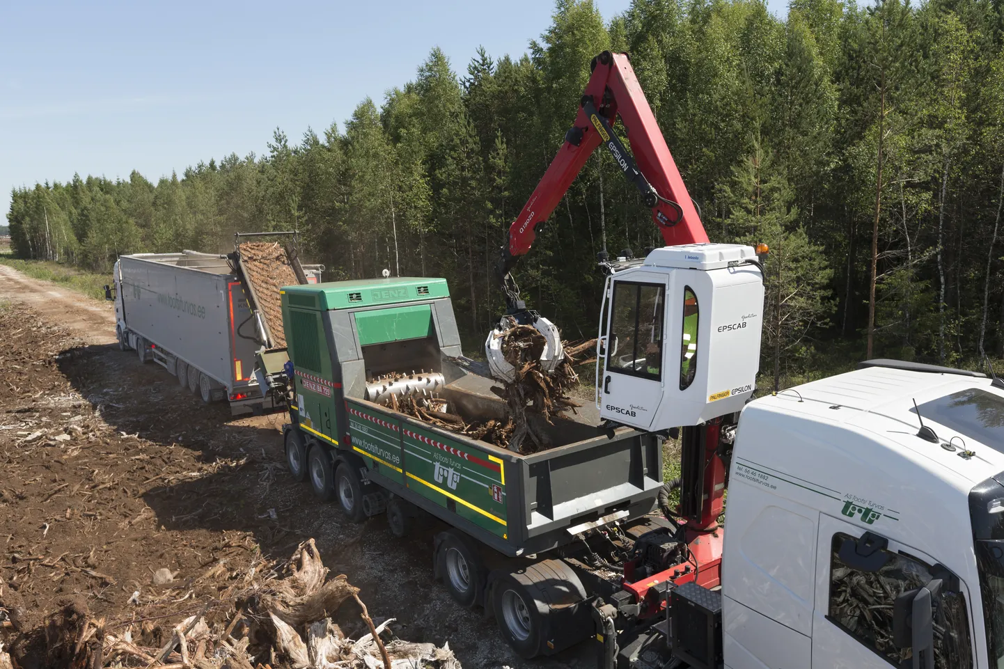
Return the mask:
M612 279L608 292L599 415L647 429L663 399L666 274L637 272Z

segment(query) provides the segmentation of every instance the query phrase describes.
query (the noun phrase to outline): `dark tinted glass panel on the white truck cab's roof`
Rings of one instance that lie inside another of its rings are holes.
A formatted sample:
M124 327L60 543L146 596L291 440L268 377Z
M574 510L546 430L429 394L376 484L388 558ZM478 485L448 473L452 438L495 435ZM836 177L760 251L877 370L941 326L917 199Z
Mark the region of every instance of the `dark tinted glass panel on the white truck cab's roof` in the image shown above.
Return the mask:
M1004 452L1004 397L982 388L967 388L925 402L920 410L925 420L940 423L967 440Z

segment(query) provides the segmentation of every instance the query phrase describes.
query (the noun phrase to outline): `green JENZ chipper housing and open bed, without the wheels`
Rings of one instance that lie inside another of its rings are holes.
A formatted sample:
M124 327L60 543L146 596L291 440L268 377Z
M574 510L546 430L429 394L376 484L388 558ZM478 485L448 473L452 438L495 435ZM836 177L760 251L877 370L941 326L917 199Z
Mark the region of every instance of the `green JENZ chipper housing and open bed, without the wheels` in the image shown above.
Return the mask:
M659 439L596 429L591 403L544 425L558 444L520 455L369 402L366 382L438 372L439 394L465 416L501 418L494 382L469 374L445 279L393 278L282 290L296 400L292 425L332 467L357 467L367 494L393 494L516 556L566 543L582 523L652 511L662 486Z

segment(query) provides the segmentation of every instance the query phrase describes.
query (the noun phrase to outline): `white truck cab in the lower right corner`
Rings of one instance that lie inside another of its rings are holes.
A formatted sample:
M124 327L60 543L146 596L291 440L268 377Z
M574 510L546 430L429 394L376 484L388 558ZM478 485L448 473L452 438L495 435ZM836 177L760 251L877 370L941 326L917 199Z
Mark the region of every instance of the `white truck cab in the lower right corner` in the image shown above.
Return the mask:
M970 374L874 361L745 407L726 667L1004 667L1004 384Z

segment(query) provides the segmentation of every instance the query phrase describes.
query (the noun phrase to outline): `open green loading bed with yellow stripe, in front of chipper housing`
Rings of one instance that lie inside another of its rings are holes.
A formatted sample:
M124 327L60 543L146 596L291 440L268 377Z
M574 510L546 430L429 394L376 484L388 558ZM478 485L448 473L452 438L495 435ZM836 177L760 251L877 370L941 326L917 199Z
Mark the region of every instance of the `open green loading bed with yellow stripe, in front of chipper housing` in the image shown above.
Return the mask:
M501 417L491 385L469 375L442 395L467 416ZM629 428L599 433L591 404L544 426L559 445L522 455L362 399L345 403L350 447L374 482L503 554L547 550L571 541L569 528L630 520L657 504L659 438Z

